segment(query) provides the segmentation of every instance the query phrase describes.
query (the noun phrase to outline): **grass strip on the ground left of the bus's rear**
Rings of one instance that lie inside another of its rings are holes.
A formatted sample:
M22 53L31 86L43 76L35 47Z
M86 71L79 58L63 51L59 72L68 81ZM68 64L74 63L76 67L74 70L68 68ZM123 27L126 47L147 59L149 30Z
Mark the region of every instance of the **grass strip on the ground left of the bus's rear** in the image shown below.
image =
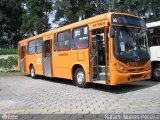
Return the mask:
M7 76L22 76L25 75L24 73L20 71L10 71L10 72L0 72L0 77L7 77Z

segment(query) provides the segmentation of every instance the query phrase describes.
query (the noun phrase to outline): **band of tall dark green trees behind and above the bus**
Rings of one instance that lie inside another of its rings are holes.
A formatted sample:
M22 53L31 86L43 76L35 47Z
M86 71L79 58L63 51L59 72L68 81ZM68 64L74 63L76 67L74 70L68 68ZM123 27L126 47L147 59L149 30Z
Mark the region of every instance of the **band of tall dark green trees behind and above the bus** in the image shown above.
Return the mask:
M0 47L16 48L23 37L48 31L53 10L59 26L109 11L160 20L160 0L0 0Z

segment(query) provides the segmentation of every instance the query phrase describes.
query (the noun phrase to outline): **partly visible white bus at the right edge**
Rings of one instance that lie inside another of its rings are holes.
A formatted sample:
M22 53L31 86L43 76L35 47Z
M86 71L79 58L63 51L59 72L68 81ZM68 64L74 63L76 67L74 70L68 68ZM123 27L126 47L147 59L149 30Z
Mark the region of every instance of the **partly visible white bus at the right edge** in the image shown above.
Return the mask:
M147 23L150 34L152 78L160 81L160 21Z

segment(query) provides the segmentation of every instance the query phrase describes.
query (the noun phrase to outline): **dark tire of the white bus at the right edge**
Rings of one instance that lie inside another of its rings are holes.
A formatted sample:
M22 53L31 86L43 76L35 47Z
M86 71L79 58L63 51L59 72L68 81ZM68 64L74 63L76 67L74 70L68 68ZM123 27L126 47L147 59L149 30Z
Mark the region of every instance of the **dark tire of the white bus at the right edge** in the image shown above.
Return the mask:
M152 79L155 81L160 81L160 64L155 64L152 67Z

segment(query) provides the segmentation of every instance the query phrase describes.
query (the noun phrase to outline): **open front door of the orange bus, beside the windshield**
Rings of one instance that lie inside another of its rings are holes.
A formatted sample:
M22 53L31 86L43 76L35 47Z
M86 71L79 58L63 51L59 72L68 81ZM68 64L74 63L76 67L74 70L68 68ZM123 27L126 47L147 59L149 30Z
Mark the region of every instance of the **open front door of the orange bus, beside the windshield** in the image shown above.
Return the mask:
M92 82L106 83L106 37L104 28L91 31L90 73Z

